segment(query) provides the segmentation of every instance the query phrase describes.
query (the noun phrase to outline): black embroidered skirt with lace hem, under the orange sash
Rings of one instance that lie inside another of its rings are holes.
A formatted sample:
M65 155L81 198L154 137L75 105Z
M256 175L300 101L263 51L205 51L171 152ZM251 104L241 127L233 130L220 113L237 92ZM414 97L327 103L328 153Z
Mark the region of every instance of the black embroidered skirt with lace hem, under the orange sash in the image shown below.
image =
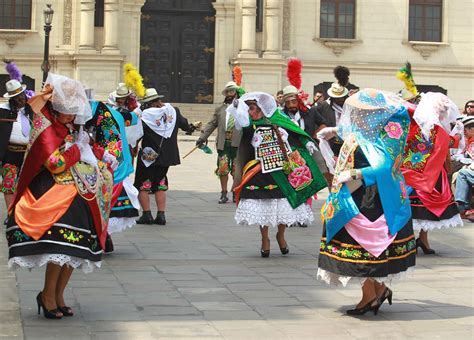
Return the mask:
M41 197L54 185L48 171L42 171L31 182L29 189L35 198ZM55 263L81 268L90 272L100 267L103 253L87 202L76 195L66 213L44 235L34 240L26 235L9 217L6 237L9 266L33 268Z

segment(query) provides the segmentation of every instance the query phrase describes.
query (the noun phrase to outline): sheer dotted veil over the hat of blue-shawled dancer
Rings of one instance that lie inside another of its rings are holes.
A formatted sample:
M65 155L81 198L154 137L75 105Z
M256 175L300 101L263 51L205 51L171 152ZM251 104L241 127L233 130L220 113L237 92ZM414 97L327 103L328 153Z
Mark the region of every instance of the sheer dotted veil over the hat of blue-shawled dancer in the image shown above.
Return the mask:
M401 105L394 93L363 89L345 101L338 134L342 139L355 134L359 144L373 143Z

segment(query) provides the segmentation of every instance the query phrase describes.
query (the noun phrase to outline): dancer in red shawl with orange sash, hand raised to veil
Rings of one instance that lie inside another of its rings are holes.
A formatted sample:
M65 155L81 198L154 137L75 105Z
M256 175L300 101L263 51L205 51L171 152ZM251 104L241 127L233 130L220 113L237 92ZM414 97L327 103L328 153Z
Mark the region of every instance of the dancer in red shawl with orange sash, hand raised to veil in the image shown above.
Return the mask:
M46 86L29 101L33 131L10 206L6 229L9 266L47 265L36 298L47 318L73 315L64 289L73 269L100 267L105 247L113 175L74 124L91 117L82 84L49 74Z

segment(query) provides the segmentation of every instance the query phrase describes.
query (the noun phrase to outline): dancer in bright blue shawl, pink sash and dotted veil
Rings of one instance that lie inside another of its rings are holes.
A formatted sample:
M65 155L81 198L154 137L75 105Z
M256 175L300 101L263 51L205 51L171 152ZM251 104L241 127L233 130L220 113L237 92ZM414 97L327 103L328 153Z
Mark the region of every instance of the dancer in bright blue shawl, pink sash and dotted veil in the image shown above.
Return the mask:
M347 314L377 313L392 291L385 286L415 265L410 200L400 170L410 118L395 94L364 89L349 97L337 128L344 143L324 223L318 279L345 286L362 283L362 299Z

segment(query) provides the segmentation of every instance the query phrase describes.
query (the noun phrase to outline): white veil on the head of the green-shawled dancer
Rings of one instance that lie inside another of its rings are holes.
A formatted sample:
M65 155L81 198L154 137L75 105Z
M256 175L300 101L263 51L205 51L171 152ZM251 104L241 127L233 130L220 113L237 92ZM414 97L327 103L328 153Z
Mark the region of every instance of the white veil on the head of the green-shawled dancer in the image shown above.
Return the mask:
M273 116L277 109L275 98L265 92L249 92L227 107L227 113L234 116L235 127L241 129L250 125L249 106L245 103L247 100L255 100L258 107L262 110L265 117Z

